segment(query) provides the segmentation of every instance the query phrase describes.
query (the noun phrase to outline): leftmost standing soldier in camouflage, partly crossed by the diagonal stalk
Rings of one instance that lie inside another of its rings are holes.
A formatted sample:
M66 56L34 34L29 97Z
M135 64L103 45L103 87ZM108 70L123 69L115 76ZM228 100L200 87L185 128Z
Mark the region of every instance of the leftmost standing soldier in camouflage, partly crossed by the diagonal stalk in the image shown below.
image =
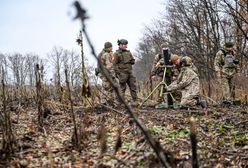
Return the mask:
M108 73L107 75L112 77L113 81L115 82L112 43L110 42L104 43L104 48L101 51L101 53L98 55L98 58L100 59L104 70L106 70L105 72ZM102 80L102 87L103 87L103 90L101 92L101 103L105 105L109 105L109 104L114 105L116 99L115 92L113 90L113 87L110 85L107 78L103 76L101 71L103 71L103 69L99 71L100 73L99 76Z

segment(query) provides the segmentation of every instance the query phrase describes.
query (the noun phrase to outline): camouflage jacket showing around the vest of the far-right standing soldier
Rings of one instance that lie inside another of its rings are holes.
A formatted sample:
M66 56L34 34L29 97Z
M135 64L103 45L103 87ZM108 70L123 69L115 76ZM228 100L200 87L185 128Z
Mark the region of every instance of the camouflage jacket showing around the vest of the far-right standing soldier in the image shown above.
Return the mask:
M232 77L235 73L240 72L240 67L238 64L234 64L232 68L227 68L224 66L225 50L219 50L216 53L214 59L214 68L216 72L221 72L223 77Z

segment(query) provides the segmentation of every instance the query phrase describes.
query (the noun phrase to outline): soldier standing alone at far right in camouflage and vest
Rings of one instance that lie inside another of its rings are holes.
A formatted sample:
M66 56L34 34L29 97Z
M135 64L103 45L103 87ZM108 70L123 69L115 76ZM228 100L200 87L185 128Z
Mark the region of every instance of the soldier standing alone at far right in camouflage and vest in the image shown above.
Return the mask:
M234 92L235 75L240 76L239 61L235 58L232 42L225 43L224 49L216 53L214 67L218 81L222 86L222 103L232 104L231 95Z

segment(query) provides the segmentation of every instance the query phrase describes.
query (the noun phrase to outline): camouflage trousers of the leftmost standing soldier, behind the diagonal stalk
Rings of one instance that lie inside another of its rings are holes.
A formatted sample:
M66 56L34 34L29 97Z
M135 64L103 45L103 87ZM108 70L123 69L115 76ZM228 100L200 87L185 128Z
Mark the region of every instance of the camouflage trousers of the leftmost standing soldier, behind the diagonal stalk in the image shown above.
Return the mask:
M114 88L108 82L105 77L101 77L102 79L102 91L101 91L101 103L115 103L116 102L116 93Z

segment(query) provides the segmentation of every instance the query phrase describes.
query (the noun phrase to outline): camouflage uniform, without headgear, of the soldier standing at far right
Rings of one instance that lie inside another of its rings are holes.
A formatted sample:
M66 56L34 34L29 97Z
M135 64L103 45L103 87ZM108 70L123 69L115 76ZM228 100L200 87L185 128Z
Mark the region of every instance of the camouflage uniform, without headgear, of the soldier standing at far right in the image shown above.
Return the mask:
M228 60L225 57L228 55L233 56L233 60L231 64L229 64ZM214 67L217 73L220 73L221 77L219 82L222 87L222 99L223 101L231 101L231 96L234 92L234 75L240 72L240 67L238 63L235 64L236 58L234 57L233 51L228 51L225 49L221 49L216 53L216 57L214 60Z

